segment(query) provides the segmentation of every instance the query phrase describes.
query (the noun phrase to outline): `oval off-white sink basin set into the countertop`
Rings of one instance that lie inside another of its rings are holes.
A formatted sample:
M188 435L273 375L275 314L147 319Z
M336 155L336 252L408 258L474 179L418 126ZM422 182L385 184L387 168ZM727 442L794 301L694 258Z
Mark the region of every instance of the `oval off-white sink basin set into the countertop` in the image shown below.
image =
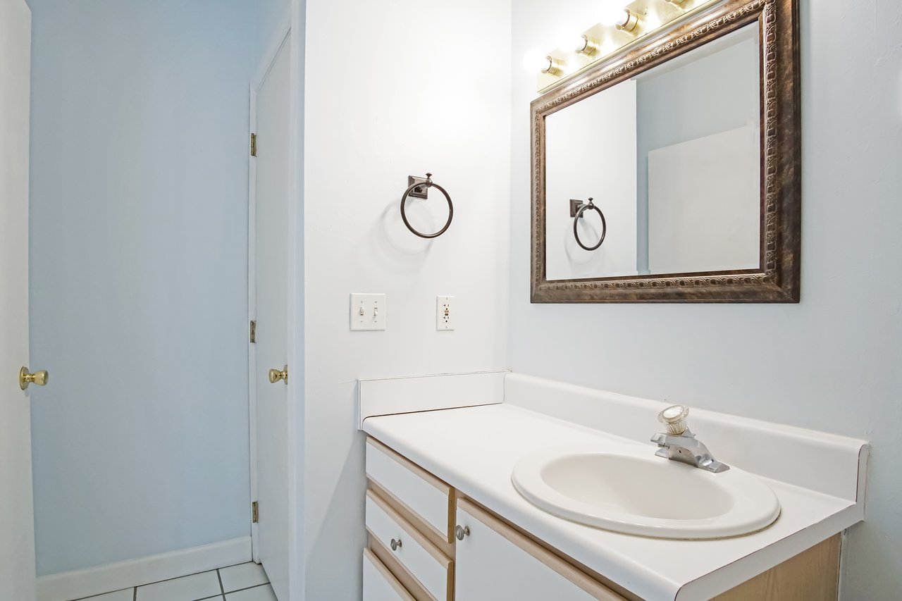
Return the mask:
M653 448L547 449L520 459L512 480L520 495L558 517L658 538L748 534L780 513L777 495L758 477L735 467L713 474L656 457Z

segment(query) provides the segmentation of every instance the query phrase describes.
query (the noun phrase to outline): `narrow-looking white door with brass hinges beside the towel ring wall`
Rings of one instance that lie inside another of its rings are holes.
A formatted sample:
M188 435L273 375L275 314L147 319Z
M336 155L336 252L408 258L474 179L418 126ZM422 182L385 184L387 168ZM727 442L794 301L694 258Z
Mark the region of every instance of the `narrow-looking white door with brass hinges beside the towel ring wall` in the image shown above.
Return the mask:
M257 89L254 215L257 549L280 601L289 599L288 385L269 372L288 362L289 66L286 41Z

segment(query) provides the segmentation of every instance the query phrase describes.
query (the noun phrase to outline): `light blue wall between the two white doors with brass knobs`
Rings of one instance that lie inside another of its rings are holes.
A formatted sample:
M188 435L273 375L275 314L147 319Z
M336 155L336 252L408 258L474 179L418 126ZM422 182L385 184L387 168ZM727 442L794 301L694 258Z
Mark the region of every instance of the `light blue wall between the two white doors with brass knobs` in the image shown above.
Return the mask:
M38 573L246 536L256 3L30 4Z

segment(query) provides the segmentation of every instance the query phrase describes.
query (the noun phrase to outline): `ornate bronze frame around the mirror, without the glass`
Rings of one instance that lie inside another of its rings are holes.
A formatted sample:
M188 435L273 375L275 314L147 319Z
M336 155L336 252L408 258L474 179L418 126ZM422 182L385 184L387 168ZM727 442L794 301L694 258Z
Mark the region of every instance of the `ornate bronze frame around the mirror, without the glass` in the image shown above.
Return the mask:
M546 278L545 117L739 28L758 23L759 269L598 279ZM530 103L532 302L798 302L801 131L796 0L727 0Z

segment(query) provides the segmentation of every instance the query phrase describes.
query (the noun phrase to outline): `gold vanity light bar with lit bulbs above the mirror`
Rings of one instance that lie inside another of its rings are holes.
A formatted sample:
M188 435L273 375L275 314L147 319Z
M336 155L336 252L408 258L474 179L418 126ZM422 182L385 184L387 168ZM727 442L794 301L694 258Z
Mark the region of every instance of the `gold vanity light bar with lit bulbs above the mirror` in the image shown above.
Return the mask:
M723 0L635 0L624 5L621 23L597 23L582 33L584 43L548 52L549 69L538 73L539 92L554 88L614 54L625 51L689 14ZM578 42L578 40L577 40Z

